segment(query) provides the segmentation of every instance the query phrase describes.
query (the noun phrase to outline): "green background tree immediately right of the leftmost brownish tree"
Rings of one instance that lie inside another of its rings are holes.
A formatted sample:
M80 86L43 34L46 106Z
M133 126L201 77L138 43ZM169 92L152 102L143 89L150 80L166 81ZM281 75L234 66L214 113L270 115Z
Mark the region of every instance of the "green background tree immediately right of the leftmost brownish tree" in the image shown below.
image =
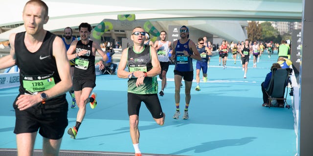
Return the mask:
M265 41L275 40L279 32L275 30L274 27L272 27L272 24L270 22L263 22L261 23L262 27L262 39Z

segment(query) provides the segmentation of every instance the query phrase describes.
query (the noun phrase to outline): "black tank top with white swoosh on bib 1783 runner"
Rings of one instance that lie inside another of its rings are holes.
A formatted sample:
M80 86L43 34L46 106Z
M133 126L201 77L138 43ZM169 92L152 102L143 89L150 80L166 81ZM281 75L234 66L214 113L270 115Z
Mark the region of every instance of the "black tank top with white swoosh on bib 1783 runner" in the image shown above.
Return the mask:
M16 55L15 64L20 68L20 94L34 93L26 91L26 89L23 87L26 85L23 85L23 83L26 82L23 82L23 80L43 80L46 78L53 78L55 84L60 82L61 78L59 76L56 61L52 53L52 45L56 35L47 31L41 47L34 53L31 53L27 50L24 44L24 38L25 32L17 33L14 41ZM49 80L50 79L47 79L47 81ZM41 90L37 91L39 92Z

